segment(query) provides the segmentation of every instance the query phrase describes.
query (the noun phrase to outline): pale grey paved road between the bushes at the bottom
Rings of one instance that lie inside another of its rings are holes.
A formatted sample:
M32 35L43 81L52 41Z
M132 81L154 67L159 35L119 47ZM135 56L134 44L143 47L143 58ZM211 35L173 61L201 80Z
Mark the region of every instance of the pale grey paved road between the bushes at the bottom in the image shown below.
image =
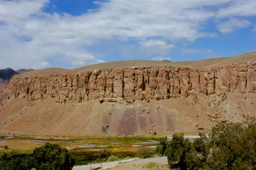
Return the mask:
M109 163L102 163L103 169L112 168L118 165L131 165L131 164L146 164L148 162L156 162L156 163L167 163L167 157L157 157L157 158L147 158L147 159L128 159L128 160L118 160ZM100 164L93 164L92 168L100 167ZM83 166L76 166L72 170L90 170L91 165L83 165Z

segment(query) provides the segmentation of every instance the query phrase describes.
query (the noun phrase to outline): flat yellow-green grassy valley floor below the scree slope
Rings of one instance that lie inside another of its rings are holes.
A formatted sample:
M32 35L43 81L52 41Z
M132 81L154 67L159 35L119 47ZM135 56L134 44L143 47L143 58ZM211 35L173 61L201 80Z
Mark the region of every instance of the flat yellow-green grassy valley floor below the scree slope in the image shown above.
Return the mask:
M131 137L131 138L72 138L72 139L40 139L28 137L0 138L0 147L8 146L8 149L0 150L0 155L24 155L32 153L34 148L44 145L46 142L59 144L61 147L74 148L71 149L76 158L76 165L86 165L90 162L99 160L100 152L106 148L109 152L118 155L121 158L134 158L138 156L140 148L133 146L134 143L141 143L143 146L155 144L147 144L148 141L157 140L157 138ZM90 148L79 148L79 146L91 145ZM97 161L96 161L97 162Z

